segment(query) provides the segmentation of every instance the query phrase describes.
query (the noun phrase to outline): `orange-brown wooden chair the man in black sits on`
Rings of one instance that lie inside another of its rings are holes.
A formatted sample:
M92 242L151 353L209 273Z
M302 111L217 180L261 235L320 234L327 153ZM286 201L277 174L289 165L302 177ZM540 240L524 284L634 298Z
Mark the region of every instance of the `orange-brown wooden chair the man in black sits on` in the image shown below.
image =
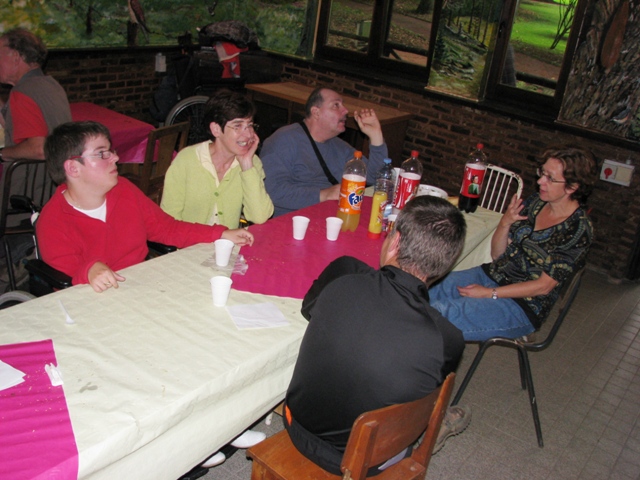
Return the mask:
M283 430L247 451L247 456L253 459L251 479L364 480L369 467L397 455L424 432L420 446L410 457L371 477L377 480L423 480L447 411L454 379L455 374L449 374L438 389L420 400L360 415L353 424L342 459L342 477L332 475L308 460Z

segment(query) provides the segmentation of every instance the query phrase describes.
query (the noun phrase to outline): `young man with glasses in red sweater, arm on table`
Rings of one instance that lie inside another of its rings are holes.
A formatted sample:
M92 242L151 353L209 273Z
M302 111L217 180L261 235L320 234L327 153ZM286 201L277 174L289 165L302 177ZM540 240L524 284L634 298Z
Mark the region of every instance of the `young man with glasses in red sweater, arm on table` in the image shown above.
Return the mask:
M147 240L183 248L226 238L251 245L244 229L181 222L118 176L109 130L97 122L56 127L45 143L56 192L42 209L36 234L42 259L96 292L125 278L118 270L142 262Z

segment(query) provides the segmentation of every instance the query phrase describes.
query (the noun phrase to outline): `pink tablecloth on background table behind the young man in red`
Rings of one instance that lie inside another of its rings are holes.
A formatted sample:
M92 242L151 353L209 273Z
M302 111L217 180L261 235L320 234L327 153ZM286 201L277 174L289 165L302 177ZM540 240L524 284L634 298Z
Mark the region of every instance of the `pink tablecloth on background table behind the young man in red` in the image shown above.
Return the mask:
M119 163L144 162L147 137L153 125L89 102L72 103L71 117L74 121L93 120L106 126Z

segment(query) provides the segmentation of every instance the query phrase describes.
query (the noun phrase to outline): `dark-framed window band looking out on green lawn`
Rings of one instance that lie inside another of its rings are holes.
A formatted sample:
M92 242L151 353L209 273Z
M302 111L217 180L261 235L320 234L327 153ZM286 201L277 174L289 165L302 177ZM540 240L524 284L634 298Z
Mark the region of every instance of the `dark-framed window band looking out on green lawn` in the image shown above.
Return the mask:
M586 0L322 0L316 56L473 100L553 109L585 6Z

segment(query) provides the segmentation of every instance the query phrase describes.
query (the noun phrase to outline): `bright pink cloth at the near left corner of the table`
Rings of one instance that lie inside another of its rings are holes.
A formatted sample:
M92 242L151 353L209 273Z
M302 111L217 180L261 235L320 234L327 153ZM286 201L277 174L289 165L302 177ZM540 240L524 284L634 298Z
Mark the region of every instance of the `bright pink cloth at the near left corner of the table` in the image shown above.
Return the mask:
M57 365L53 342L0 345L0 360L24 382L0 391L0 478L78 478L78 449L62 387L44 371Z

